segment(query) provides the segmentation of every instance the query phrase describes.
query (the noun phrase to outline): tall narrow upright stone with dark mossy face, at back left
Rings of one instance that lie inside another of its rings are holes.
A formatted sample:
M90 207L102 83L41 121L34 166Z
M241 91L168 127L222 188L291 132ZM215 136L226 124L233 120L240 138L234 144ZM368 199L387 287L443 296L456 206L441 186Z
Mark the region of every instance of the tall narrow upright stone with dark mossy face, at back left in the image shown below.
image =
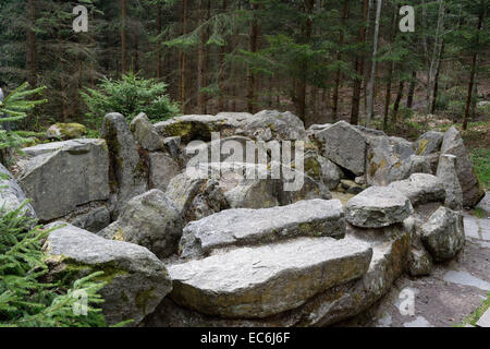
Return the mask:
M139 157L135 140L126 120L120 113L108 113L102 121L101 137L107 141L111 159L111 198L113 218L125 203L148 190L146 167Z

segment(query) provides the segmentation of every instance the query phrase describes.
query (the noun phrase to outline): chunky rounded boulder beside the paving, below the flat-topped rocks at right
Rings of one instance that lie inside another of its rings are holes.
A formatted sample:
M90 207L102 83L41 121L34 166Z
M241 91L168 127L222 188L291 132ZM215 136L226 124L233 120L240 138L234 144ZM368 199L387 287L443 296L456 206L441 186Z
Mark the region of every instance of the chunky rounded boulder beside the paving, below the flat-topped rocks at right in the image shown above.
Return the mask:
M463 215L440 207L421 226L421 239L436 262L453 258L465 244Z

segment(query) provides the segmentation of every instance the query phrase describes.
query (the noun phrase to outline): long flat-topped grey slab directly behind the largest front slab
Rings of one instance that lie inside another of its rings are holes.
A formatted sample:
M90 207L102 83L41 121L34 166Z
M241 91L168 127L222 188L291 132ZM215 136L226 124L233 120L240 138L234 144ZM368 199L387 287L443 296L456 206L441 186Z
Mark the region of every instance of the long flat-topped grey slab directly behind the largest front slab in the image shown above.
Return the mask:
M292 237L345 234L345 219L339 200L301 201L293 205L262 209L228 209L192 221L184 229L184 257L209 254L230 245L256 245Z

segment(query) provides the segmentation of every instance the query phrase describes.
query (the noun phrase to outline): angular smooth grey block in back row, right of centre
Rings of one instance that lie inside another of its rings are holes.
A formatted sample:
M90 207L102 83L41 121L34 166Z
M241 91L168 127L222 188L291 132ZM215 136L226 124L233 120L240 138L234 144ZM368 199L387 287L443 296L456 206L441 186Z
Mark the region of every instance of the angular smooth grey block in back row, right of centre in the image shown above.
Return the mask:
M324 128L315 133L322 145L322 155L360 176L365 172L366 136L345 121Z

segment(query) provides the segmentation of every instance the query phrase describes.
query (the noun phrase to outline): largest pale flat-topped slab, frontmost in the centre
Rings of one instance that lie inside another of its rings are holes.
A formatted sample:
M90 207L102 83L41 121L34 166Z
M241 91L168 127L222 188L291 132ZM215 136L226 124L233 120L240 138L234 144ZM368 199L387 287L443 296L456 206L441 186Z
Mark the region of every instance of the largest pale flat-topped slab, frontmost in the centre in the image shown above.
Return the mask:
M367 243L331 238L243 248L169 266L171 298L204 314L264 318L362 277L371 255Z

